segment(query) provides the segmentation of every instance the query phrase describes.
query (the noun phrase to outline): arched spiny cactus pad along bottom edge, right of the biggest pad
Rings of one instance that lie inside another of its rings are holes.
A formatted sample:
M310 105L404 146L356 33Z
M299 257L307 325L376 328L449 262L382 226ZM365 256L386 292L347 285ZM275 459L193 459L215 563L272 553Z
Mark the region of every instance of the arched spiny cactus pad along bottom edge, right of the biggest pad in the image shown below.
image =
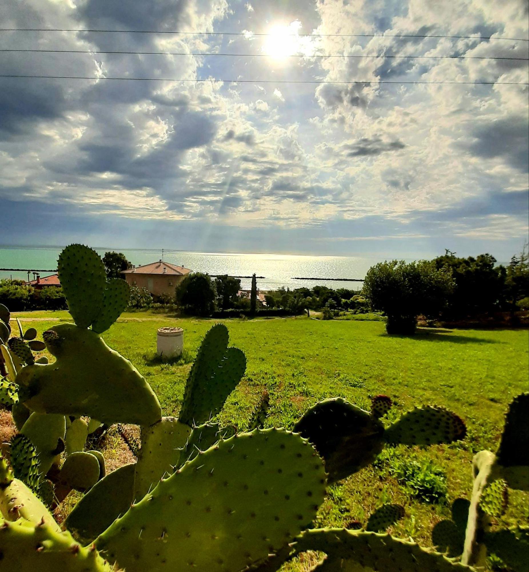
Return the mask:
M360 530L316 529L305 531L295 545L296 553L319 550L327 558L316 570L376 570L376 572L451 572L470 568L442 554L424 550L415 542Z

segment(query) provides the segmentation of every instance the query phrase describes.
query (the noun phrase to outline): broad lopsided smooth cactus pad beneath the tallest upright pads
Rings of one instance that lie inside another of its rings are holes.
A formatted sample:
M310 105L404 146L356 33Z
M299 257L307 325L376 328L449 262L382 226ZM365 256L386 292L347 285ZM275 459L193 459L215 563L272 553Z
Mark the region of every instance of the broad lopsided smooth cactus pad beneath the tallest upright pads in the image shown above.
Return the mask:
M59 324L45 336L55 363L27 366L17 375L25 403L41 413L88 415L103 423L150 425L161 418L157 396L138 370L98 333Z

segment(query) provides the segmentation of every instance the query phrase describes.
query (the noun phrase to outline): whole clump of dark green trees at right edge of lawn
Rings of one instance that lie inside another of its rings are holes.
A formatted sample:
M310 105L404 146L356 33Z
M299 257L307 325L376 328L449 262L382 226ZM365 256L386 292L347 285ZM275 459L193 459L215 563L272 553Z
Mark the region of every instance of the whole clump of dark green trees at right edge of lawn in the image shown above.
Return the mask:
M392 260L371 267L363 293L387 316L388 333L413 333L417 316L465 320L529 309L527 249L507 267L490 254L458 257L446 251L434 260Z

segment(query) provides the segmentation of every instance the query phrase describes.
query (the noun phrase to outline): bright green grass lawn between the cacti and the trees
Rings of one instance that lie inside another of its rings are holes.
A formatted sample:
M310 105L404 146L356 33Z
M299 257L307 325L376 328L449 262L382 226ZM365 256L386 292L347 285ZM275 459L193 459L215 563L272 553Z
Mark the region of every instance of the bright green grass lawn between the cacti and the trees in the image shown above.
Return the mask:
M39 338L67 312L18 313L25 327ZM226 323L231 345L243 349L246 376L221 414L224 423L245 429L251 408L264 388L271 395L268 426L291 428L320 399L342 396L368 408L370 397L390 395L399 412L422 404L455 411L467 423L462 443L429 449L386 450L376 467L330 487L318 524L348 526L366 523L384 502L404 505L406 516L392 529L430 545L430 533L440 518L450 515L450 503L467 497L472 488L472 455L495 450L507 404L528 390L529 332L526 330L422 330L413 337L388 336L380 321L308 319L306 316L266 320L199 320L172 318L153 312L123 313L104 335L146 377L165 415L178 414L187 372L201 337L215 321ZM176 364L155 359L156 330L162 325L184 328L185 356ZM411 470L419 494L404 483ZM446 485L446 490L443 487ZM433 496L432 496L433 495ZM439 502L427 502L435 498ZM512 491L506 524L527 522L527 495Z

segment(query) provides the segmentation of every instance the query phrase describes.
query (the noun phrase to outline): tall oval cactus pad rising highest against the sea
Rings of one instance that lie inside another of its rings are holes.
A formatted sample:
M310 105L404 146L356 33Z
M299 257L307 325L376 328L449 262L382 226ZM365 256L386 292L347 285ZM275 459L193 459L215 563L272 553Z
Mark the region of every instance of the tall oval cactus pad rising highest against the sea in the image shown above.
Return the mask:
M57 261L59 280L68 309L80 328L99 316L105 294L105 265L98 253L82 244L71 244Z

